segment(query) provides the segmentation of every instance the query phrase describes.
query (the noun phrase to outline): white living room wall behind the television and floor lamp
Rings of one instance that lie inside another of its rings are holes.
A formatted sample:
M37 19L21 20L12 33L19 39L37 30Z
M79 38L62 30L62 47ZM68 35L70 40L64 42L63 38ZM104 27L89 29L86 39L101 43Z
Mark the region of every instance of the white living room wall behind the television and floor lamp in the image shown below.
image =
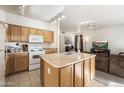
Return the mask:
M89 37L87 50L90 51L93 41L108 41L111 53L118 54L124 52L124 25L109 27L98 30L83 31L84 36Z

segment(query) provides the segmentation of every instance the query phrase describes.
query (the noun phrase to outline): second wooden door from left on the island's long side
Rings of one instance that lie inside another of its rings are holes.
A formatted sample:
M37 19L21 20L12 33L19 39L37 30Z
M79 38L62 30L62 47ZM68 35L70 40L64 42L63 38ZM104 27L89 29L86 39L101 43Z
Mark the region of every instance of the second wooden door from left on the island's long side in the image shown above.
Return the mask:
M83 86L83 62L75 64L75 87Z

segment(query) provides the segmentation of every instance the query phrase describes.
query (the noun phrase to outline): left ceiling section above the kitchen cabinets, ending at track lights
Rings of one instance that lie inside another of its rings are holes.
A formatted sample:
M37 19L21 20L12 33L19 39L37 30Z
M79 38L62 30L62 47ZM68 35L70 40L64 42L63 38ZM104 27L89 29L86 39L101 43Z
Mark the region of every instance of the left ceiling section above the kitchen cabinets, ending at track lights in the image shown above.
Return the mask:
M1 5L0 9L21 15L19 13L19 6L20 5ZM23 16L41 21L49 21L51 18L63 11L63 9L64 6L59 5L26 5Z

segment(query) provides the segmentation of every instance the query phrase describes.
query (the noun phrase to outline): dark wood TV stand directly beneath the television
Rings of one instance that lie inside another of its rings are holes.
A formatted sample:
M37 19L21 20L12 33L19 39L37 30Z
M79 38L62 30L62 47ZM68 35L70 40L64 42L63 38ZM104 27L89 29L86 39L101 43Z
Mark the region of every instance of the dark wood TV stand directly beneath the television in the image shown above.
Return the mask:
M91 53L96 54L96 69L109 72L110 50L91 49Z

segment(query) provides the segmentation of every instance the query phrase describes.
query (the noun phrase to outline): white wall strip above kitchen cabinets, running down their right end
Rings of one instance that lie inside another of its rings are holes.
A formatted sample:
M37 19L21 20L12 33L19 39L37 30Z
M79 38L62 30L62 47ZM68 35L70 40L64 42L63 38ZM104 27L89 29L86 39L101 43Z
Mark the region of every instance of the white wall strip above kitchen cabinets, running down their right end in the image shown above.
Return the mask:
M27 18L24 16L18 16L14 15L11 13L7 13L5 11L0 10L0 21L9 23L9 24L15 24L15 25L20 25L20 26L27 26L27 27L32 27L32 28L37 28L37 29L45 29L45 30L50 30L54 31L54 43L52 44L44 44L44 47L57 47L57 25L51 25L47 22L39 21L39 20L34 20L31 18Z

